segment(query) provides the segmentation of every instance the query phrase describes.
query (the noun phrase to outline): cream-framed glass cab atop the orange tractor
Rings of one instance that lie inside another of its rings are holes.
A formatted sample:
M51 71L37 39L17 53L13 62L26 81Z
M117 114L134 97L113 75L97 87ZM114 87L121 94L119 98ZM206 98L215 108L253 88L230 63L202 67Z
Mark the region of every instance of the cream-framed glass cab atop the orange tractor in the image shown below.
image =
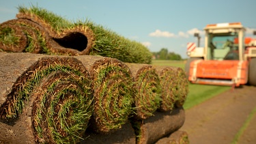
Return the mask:
M242 61L243 54L244 28L240 23L221 23L205 27L204 59Z

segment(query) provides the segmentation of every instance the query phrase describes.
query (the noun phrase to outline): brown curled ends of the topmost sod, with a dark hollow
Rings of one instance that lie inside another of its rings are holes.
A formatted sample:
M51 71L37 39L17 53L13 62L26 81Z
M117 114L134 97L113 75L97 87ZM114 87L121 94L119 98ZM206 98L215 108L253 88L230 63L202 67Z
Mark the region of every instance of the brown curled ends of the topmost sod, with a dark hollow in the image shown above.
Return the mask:
M46 53L48 55L88 55L94 33L85 25L57 31L35 14L19 13L18 19L0 25L3 51Z

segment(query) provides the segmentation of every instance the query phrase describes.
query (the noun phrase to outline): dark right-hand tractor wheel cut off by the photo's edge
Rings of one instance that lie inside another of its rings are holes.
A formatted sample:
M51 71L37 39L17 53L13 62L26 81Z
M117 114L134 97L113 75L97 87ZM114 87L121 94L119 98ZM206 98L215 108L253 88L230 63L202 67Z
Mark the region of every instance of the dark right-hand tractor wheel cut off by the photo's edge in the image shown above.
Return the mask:
M256 58L252 58L249 63L248 82L256 86Z

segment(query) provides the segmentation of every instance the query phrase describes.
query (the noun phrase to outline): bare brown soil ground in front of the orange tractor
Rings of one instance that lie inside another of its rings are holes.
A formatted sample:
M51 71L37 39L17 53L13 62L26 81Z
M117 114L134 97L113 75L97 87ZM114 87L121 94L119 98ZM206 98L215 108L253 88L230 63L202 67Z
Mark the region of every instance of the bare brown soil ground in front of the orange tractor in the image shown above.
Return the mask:
M191 144L231 143L255 107L256 87L244 85L186 110L181 130ZM256 143L256 114L238 143Z

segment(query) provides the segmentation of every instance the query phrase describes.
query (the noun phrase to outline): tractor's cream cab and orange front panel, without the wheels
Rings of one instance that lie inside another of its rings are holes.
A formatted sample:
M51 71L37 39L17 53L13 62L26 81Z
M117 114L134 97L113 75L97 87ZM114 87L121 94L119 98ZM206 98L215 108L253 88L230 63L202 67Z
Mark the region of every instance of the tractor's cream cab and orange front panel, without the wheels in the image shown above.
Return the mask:
M247 83L245 29L241 23L207 25L204 30L205 46L201 57L190 57L186 63L188 80L210 85L239 86Z

